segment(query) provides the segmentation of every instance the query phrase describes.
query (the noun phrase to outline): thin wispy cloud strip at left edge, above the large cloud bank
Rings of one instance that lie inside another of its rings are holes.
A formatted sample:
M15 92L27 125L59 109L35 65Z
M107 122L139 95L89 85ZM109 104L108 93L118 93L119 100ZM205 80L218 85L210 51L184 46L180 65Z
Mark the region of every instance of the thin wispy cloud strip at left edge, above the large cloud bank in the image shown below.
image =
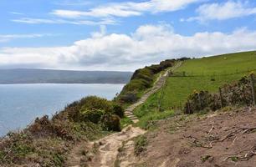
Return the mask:
M31 34L0 34L0 43L8 42L16 38L42 38L45 36L52 36L50 33L31 33Z

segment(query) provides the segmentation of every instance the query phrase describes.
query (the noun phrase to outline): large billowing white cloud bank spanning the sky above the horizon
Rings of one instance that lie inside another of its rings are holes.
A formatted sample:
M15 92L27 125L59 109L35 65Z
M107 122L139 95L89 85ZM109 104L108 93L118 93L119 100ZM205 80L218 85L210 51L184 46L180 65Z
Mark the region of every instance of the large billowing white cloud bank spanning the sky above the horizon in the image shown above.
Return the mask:
M95 35L96 34L96 35ZM134 70L166 58L200 57L256 49L256 31L183 36L168 25L144 25L131 35L93 33L69 47L3 48L0 67Z

